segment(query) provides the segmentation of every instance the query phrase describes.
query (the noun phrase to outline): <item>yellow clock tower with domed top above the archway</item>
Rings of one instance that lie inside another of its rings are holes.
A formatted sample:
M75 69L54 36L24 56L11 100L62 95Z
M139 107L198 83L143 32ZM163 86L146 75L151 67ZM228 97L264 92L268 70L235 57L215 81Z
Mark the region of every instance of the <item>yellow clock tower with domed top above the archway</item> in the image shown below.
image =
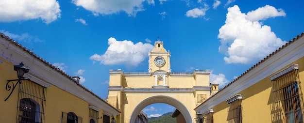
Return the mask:
M156 41L153 50L149 52L149 73L155 71L171 72L170 56L171 53L164 48L164 43Z

